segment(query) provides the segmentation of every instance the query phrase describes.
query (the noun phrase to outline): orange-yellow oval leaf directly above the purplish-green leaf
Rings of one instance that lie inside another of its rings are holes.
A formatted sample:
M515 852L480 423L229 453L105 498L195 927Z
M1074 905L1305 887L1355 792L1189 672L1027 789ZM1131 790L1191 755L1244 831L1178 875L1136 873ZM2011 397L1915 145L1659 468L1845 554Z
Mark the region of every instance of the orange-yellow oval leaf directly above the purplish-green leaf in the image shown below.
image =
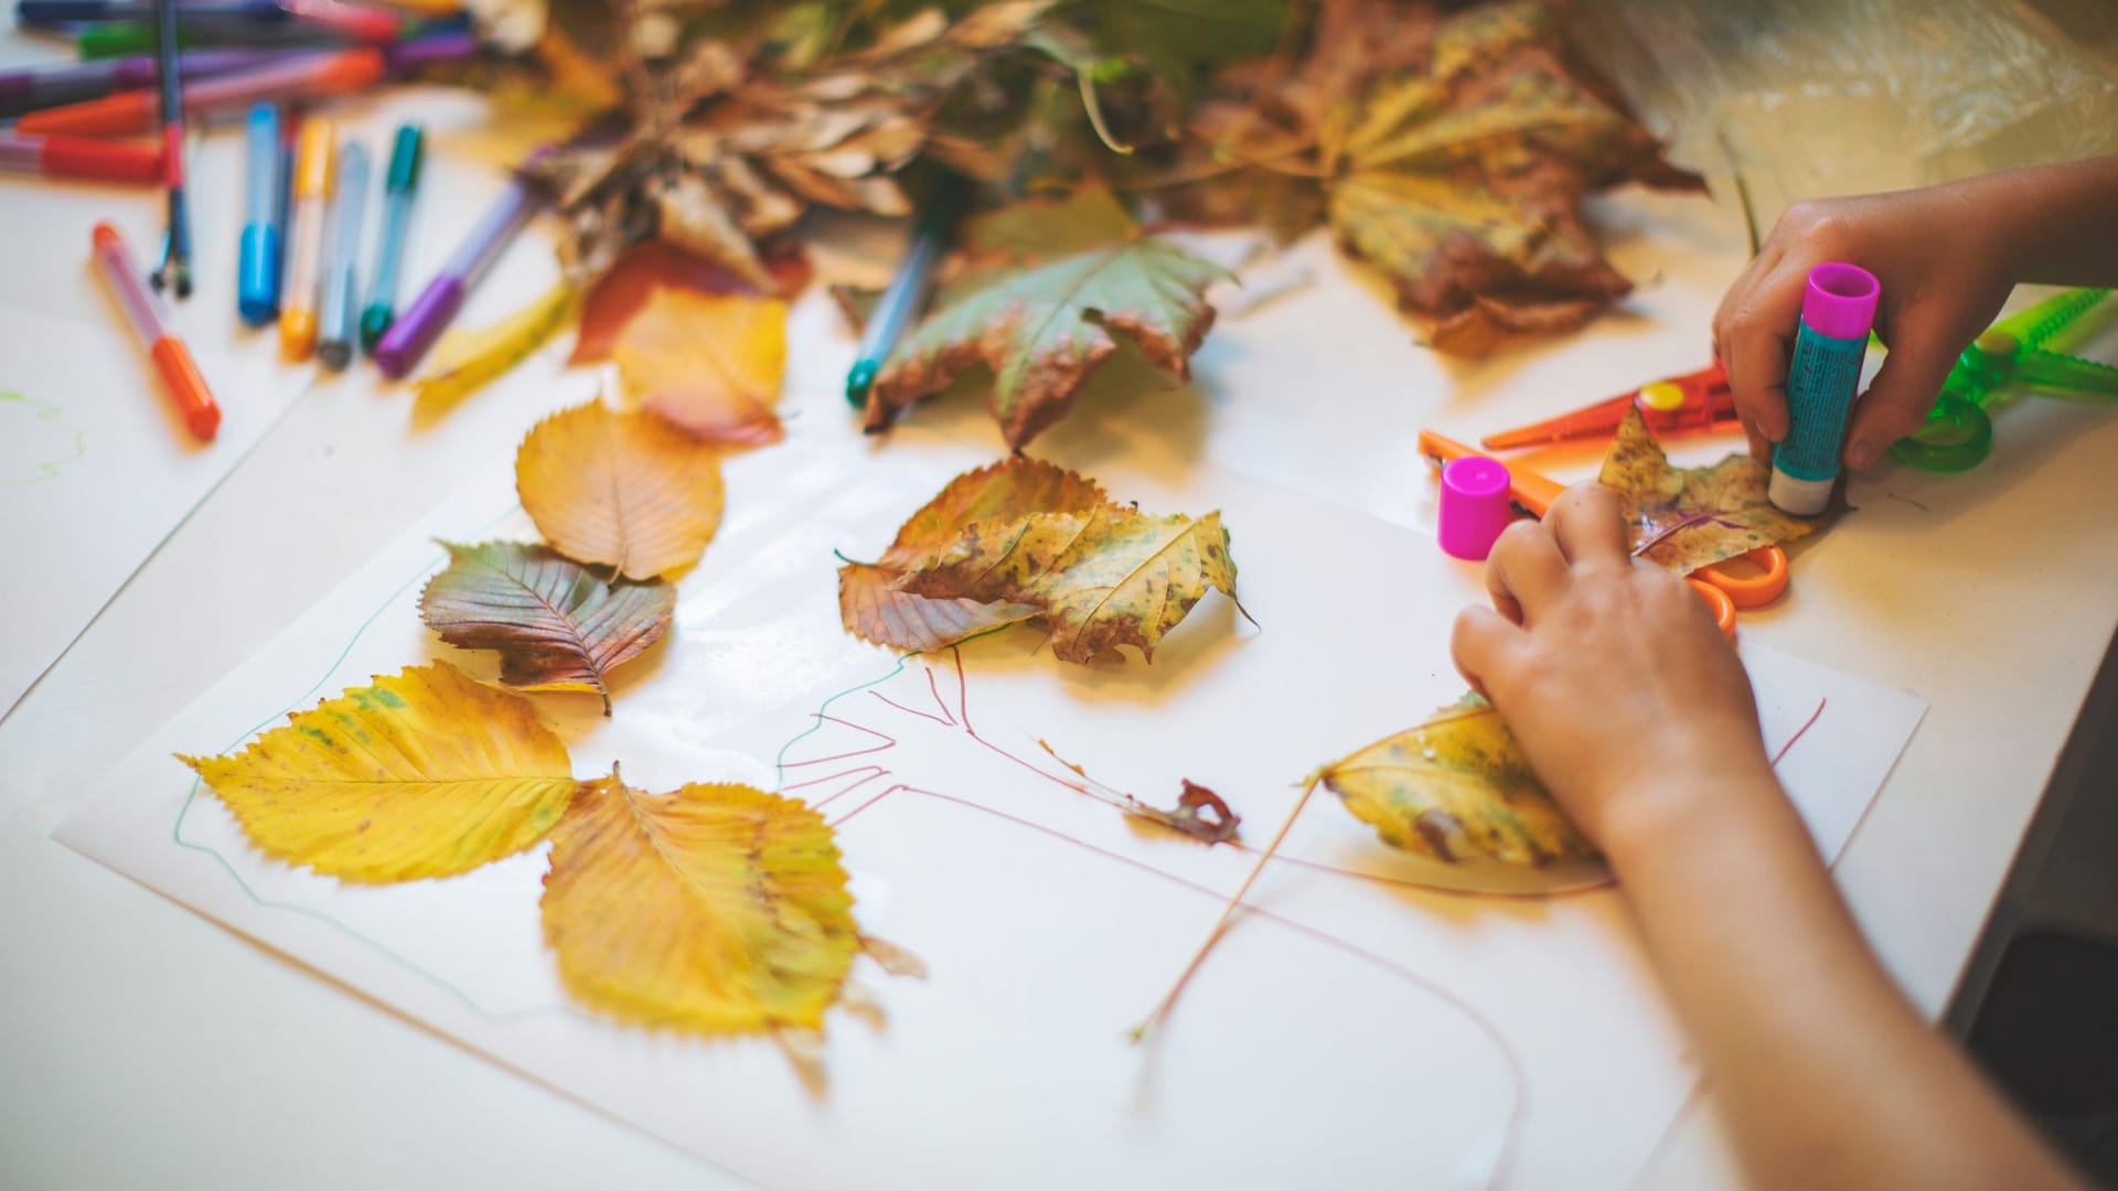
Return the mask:
M699 562L714 540L720 456L652 413L591 401L530 430L515 492L566 557L654 579Z

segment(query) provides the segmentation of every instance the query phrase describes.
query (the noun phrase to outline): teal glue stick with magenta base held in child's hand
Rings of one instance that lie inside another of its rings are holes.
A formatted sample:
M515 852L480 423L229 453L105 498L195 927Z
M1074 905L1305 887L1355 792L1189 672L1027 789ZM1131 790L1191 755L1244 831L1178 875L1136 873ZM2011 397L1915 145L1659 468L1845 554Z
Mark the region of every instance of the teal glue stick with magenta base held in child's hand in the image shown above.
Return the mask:
M1868 269L1817 265L1802 290L1802 326L1788 367L1788 437L1773 447L1773 479L1764 494L1798 517L1832 502L1847 413L1860 388L1874 299L1883 288Z

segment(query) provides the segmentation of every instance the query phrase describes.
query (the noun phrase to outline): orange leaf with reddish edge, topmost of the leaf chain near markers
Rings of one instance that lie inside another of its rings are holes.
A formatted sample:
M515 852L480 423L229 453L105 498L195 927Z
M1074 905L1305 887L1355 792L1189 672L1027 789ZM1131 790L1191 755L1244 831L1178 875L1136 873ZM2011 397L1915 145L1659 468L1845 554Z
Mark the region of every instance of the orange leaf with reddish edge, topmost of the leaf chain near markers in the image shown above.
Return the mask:
M657 286L610 352L625 392L695 439L779 441L788 369L788 305L746 295Z

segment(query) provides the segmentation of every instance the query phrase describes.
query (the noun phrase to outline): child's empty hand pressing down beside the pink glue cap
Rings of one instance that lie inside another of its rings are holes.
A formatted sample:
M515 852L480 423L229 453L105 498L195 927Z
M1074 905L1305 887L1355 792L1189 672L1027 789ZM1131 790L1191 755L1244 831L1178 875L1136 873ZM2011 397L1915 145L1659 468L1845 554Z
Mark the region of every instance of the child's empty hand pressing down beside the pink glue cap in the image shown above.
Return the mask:
M1574 485L1542 523L1510 526L1485 581L1497 612L1457 617L1457 668L1599 848L1631 812L1675 810L1663 795L1733 776L1777 790L1743 663L1682 579L1633 564L1608 487Z

